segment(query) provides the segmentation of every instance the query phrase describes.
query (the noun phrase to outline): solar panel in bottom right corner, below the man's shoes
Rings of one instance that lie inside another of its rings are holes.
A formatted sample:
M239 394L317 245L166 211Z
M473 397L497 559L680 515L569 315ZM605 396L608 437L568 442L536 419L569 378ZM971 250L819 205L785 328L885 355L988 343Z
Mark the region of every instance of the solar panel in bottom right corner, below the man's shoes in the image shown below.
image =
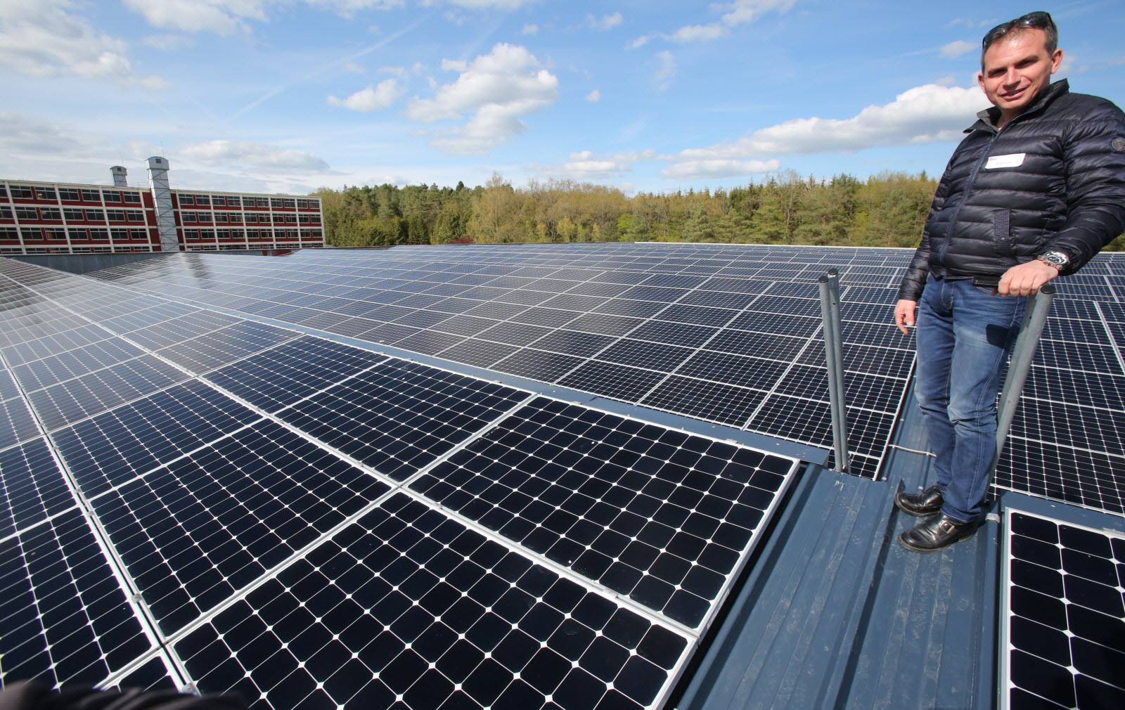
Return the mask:
M1001 707L1125 707L1125 534L1008 511Z

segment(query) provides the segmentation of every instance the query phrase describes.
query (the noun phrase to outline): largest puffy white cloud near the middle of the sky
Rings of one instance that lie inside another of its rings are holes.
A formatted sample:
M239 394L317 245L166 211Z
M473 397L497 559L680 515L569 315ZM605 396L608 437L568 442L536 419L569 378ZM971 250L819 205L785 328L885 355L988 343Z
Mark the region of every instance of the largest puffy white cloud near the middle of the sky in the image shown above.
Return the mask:
M472 63L443 60L446 71L460 75L436 87L432 99L413 99L411 120L469 120L438 134L431 145L446 153L482 154L526 129L521 116L542 110L558 99L558 78L542 69L525 47L497 44Z

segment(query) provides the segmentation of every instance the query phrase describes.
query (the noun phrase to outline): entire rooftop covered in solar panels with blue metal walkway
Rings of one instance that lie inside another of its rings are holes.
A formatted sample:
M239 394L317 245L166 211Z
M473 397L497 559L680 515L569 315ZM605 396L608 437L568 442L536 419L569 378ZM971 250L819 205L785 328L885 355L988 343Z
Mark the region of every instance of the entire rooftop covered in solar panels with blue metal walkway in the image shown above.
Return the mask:
M262 708L1114 707L1125 259L1061 280L988 523L915 555L892 498L932 474L888 317L908 258L0 260L3 681Z

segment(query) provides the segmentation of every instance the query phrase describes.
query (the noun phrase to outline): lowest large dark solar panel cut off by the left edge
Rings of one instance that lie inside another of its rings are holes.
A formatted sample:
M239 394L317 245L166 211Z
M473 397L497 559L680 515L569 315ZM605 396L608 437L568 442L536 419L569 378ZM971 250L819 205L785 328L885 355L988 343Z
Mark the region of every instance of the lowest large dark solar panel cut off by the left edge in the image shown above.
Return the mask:
M0 678L101 683L152 644L81 511L0 545Z

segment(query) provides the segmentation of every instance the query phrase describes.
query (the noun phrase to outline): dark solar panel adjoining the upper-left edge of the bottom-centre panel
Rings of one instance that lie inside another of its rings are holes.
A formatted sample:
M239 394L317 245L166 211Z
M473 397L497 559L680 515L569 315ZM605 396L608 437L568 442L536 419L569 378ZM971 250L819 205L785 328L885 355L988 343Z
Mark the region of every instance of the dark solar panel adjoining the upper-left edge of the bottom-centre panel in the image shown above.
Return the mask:
M388 491L262 422L92 500L165 633Z

